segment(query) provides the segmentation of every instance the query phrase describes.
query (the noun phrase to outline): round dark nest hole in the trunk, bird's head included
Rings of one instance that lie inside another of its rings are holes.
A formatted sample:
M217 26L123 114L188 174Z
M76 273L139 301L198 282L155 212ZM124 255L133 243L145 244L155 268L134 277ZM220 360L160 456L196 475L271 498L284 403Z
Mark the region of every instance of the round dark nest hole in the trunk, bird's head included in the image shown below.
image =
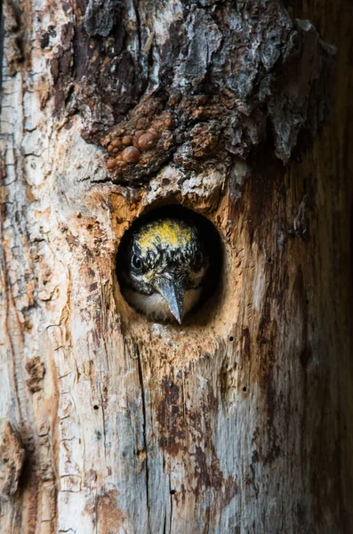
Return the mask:
M220 293L223 250L216 227L179 205L160 206L125 231L116 278L127 303L152 322L190 324Z

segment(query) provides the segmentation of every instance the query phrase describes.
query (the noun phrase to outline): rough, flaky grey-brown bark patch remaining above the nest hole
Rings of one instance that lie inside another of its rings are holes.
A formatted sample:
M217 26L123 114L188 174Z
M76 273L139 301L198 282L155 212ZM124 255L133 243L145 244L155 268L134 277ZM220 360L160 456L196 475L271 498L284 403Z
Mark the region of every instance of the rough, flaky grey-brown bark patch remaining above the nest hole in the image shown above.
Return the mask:
M84 139L108 148L111 180L146 180L172 161L230 166L258 146L287 162L301 130L317 133L334 49L309 21L293 22L278 0L156 9L100 0L84 15L88 61L82 72L76 62L71 107L84 117ZM149 129L156 135L134 139ZM118 157L113 143L126 136L140 157Z

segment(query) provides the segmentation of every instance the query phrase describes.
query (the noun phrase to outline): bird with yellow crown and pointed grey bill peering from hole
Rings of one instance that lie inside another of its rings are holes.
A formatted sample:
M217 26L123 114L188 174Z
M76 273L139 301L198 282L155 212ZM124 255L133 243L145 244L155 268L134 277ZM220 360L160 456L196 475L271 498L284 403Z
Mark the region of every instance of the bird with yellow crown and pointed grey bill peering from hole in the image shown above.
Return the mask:
M148 319L181 324L200 301L208 266L205 238L196 224L184 217L158 217L131 231L122 294Z

